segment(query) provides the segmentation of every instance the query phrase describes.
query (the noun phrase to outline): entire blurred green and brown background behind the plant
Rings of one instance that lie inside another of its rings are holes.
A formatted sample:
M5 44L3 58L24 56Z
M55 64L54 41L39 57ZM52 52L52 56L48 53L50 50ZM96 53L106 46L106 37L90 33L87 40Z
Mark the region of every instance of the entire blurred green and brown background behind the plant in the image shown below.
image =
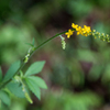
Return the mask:
M88 25L110 34L110 0L1 0L0 65L3 74L24 57L26 43L36 46L70 29L72 23ZM65 35L63 35L65 36ZM65 36L66 37L66 36ZM110 44L92 36L66 38L62 50L57 37L38 50L24 70L35 61L46 61L40 76L48 89L34 101L11 96L3 110L110 110Z

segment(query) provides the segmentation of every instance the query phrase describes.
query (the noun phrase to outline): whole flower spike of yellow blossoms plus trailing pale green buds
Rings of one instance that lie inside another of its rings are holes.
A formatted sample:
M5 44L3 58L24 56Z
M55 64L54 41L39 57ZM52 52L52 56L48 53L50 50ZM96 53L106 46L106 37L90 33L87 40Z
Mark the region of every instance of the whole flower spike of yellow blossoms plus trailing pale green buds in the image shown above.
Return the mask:
M68 38L70 37L70 35L74 34L75 31L77 31L77 35L79 34L81 34L82 36L92 35L95 36L95 38L99 37L101 41L110 42L110 36L108 34L96 32L96 30L91 31L90 26L84 25L84 28L81 28L75 23L72 23L72 28L73 28L72 30L69 29L68 32L65 33Z

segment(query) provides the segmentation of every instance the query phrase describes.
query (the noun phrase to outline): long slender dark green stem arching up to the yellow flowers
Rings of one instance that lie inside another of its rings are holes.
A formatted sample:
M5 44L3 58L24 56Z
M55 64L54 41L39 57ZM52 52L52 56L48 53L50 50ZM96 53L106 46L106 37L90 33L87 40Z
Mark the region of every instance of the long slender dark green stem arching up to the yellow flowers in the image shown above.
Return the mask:
M52 41L53 38L55 38L55 37L62 35L62 34L65 34L66 32L67 32L67 31L62 32L62 33L58 33L58 34L52 36L51 38L46 40L45 42L43 42L41 45L34 47L34 51L32 51L32 52L30 53L29 59L31 58L31 56L32 56L38 48L41 48L42 46L44 46L46 43L48 43L48 42ZM25 57L24 57L23 59L25 59ZM29 61L29 59L28 59L28 61ZM16 70L16 73L14 74L14 76L19 74L19 72L24 67L25 64L26 64L26 63L24 63L24 61L22 61L21 66L20 66L20 68ZM0 86L0 89L2 89L2 88L3 88L7 84L9 84L11 80L12 80L12 79L9 79L9 80L6 81L4 84L2 84L2 85Z

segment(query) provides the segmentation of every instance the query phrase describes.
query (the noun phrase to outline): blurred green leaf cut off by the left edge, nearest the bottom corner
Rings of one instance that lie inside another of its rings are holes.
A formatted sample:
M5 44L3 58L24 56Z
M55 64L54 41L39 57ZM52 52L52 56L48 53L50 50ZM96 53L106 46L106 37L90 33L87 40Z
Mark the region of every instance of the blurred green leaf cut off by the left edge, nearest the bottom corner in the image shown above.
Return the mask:
M0 90L0 100L6 103L7 106L10 106L10 97L6 91Z

